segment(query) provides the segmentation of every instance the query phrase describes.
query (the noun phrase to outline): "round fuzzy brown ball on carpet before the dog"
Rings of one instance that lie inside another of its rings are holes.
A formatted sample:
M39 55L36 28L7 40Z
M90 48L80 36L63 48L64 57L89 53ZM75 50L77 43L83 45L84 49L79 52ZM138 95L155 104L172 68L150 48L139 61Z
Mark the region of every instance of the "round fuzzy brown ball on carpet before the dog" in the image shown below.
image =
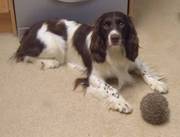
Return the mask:
M147 94L141 101L140 110L143 119L153 125L169 120L169 108L166 98L159 92Z

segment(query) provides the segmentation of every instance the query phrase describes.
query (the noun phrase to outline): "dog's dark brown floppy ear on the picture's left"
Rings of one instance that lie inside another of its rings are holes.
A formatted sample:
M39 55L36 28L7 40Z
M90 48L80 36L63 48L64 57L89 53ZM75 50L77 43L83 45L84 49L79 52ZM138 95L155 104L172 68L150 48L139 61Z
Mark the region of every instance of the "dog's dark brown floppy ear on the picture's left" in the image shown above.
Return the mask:
M98 63L104 62L106 58L106 45L101 32L101 22L103 19L104 17L101 16L96 21L90 45L92 58Z

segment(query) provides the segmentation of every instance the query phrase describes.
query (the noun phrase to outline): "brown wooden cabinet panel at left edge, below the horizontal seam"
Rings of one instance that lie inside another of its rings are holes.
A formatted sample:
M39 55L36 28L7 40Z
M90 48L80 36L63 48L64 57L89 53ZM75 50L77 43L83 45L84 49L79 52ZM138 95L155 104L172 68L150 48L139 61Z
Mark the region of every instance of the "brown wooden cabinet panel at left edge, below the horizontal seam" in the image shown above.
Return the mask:
M10 13L0 14L0 32L12 32Z

